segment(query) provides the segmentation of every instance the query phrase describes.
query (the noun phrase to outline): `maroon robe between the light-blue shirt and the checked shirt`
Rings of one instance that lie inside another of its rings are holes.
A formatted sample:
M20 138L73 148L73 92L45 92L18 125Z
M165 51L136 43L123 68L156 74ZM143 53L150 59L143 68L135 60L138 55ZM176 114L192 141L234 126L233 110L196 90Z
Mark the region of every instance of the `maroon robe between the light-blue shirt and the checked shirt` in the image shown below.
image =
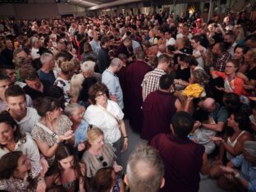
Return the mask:
M131 63L126 69L127 102L129 105L130 126L136 132L140 132L143 123L142 106L142 81L144 75L152 71L152 68L143 61Z

